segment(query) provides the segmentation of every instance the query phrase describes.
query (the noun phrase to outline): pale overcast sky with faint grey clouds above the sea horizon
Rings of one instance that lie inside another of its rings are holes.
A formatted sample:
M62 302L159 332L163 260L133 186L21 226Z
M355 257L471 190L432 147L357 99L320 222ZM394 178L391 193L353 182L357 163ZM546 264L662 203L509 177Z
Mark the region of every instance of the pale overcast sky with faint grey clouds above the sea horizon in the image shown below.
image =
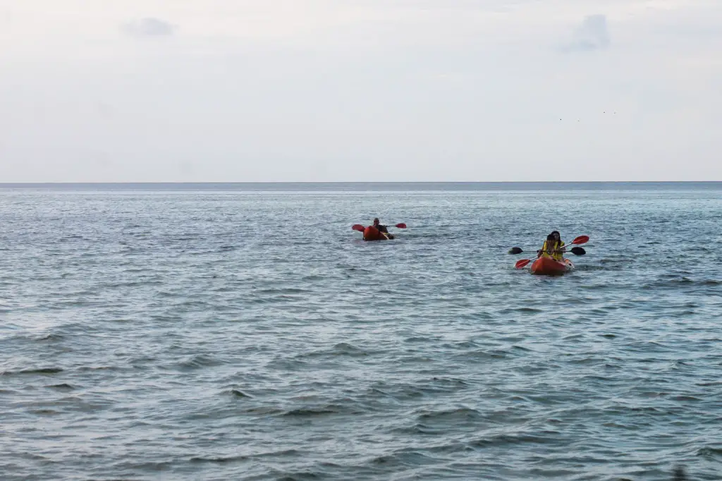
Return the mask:
M720 0L0 0L0 182L722 181Z

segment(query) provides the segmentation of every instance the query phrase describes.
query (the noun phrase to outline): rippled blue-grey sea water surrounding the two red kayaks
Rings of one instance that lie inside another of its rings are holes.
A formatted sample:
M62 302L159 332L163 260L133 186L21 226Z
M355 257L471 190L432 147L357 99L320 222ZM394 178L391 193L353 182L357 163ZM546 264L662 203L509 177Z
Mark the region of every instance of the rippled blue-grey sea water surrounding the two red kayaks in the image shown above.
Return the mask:
M722 479L722 184L266 187L0 187L1 479Z

